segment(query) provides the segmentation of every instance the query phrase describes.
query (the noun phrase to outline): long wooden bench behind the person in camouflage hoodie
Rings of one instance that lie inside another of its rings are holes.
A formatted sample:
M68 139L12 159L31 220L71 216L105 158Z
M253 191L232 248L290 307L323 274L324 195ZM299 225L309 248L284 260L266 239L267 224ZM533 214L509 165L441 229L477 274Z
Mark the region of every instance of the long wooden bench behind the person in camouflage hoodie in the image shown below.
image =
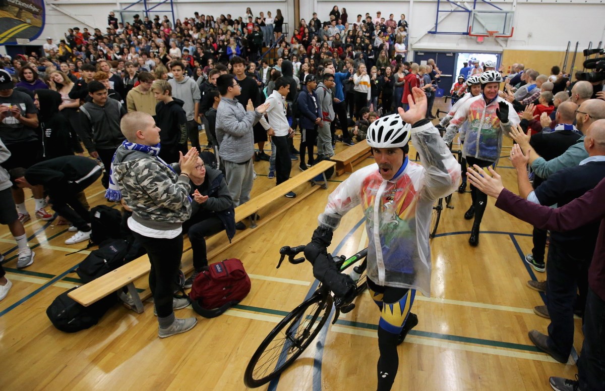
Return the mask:
M281 208L277 209L272 214L264 217L263 220L258 223L258 225L255 219L252 218L252 226L250 228L263 226L269 223L271 220L273 220L273 218L278 217L278 215L292 208L293 205L301 202L301 200L305 199L319 188L327 189L324 172L327 169L335 166L335 164L336 163L328 160L319 162L315 166L312 166L306 171L303 171L302 173L292 177L286 182L280 183L280 185L275 186L275 188L272 188L269 191L264 192L262 195L254 197L249 202L238 206L235 208L235 221L243 220L243 218L255 214L261 208L264 208L265 206L270 205L272 202L275 202L276 199L282 197L287 192L292 191L292 189L295 189L299 185L310 181L312 186L309 190L297 195L295 198L291 199L290 202L286 203L286 205L281 206ZM324 183L319 185L319 183L316 183L313 178L322 174L324 175ZM238 232L238 234L232 239L231 243L229 243L228 240L225 240L226 235L224 232L219 232L216 235L212 235L208 238L208 240L206 240L206 245L208 248L212 248L212 250L207 254L208 259L210 260L217 257L221 252L229 248L229 246L243 240L254 231L255 230L253 229L246 229L245 231ZM191 248L188 248L183 252L183 268L181 268L185 274L188 274L193 270L191 259L192 251ZM141 314L144 310L143 301L151 297L148 281L143 281L142 279L142 277L145 277L147 274L149 274L150 269L151 264L149 264L149 258L147 255L143 255L136 260L132 260L131 262L120 266L120 268L117 268L108 274L102 275L96 280L90 281L90 283L74 289L68 294L68 296L77 301L77 303L87 307L93 303L96 303L103 297L110 295L112 292L119 291L122 289L122 287L127 287L131 297L131 300L129 300L131 309L135 310L138 314ZM135 283L137 286L145 287L144 291L140 294L135 287Z

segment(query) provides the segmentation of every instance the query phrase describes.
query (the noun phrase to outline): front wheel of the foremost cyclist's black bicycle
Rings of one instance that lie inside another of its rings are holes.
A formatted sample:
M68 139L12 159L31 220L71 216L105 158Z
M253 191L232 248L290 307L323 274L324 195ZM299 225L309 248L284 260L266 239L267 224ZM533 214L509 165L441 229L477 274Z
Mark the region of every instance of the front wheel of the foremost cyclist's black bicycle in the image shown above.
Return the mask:
M332 303L332 296L315 294L286 315L250 358L244 372L246 386L263 386L284 372L313 342L330 316Z

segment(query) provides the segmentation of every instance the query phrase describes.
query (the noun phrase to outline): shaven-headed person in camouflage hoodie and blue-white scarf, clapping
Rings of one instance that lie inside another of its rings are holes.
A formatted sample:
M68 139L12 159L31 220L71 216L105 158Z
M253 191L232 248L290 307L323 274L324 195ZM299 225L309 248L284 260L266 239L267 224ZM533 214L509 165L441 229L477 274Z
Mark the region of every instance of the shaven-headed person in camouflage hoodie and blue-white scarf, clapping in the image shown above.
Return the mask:
M189 305L187 298L173 298L172 281L183 253L182 225L191 215L189 175L198 152L191 148L180 162L168 165L159 159L160 128L152 116L133 111L122 117L123 142L111 162L110 189L106 197L123 200L132 209L128 228L149 255L149 288L160 338L191 330L195 317L179 319L173 309Z

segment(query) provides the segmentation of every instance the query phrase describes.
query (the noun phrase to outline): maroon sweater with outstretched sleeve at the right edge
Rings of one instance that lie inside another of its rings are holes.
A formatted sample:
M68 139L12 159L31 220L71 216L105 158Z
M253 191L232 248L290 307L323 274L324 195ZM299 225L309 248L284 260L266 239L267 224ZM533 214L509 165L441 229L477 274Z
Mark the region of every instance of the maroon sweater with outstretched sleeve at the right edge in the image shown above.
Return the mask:
M588 270L588 284L605 301L605 179L580 198L552 209L519 197L504 189L495 202L497 208L541 229L569 231L601 220L597 246Z

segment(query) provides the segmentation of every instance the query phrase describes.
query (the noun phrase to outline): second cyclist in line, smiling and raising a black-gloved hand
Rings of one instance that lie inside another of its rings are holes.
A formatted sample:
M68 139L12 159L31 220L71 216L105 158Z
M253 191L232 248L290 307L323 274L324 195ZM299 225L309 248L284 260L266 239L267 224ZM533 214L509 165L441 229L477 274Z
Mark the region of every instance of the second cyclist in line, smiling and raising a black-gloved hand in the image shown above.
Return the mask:
M502 135L508 136L512 125L518 125L519 116L509 102L498 96L502 76L497 71L485 71L479 76L482 94L466 102L456 111L443 140L449 144L462 124L468 120L463 154L469 166L491 166L500 159ZM479 244L479 228L487 204L487 195L471 185L473 205L464 218L474 218L468 243Z

